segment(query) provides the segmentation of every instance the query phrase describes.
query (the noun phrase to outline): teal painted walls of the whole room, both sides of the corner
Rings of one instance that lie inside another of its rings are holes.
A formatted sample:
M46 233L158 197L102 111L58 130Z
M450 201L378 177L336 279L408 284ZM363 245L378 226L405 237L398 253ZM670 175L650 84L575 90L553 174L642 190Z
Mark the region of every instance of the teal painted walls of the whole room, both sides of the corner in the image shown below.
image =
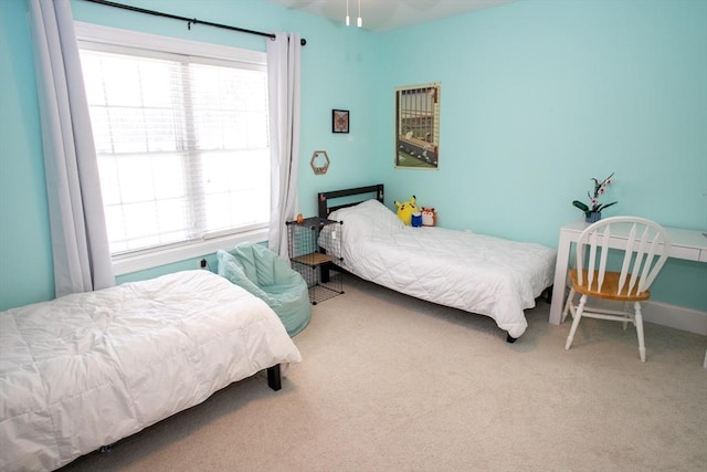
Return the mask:
M519 1L389 33L264 0L124 1L261 31L303 50L299 211L316 192L383 182L440 223L557 245L591 177L615 172L612 214L707 229L707 2ZM80 21L264 51L265 40L73 0ZM0 1L0 310L53 296L25 0ZM440 169L393 168L395 86L442 83ZM351 133L330 133L331 108ZM314 176L309 158L331 166ZM214 266L213 258L208 258ZM118 279L139 280L184 261ZM707 311L705 264L671 261L654 298Z

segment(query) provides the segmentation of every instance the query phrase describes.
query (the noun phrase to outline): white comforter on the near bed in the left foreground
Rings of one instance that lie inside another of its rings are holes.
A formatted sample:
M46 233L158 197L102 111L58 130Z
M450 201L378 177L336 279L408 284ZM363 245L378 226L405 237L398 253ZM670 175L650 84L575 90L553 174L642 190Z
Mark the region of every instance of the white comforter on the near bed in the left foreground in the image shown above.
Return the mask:
M0 470L53 470L299 352L260 298L186 271L0 313Z

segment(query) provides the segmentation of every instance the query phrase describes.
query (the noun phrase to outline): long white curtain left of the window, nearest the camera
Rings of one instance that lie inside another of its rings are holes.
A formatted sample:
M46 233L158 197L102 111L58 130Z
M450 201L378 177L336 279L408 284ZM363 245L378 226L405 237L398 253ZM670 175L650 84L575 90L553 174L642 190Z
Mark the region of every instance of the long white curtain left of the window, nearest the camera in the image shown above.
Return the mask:
M29 0L56 296L115 285L70 0Z

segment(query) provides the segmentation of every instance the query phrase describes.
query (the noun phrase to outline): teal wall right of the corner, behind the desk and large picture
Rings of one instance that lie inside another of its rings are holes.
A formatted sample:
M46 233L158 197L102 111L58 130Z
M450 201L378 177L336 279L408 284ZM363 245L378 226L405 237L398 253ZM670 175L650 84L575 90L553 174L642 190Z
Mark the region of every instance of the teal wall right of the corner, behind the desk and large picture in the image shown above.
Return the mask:
M605 216L707 229L707 2L520 1L378 40L378 102L441 82L440 169L392 166L387 196L442 225L557 247L591 177L615 172ZM441 210L441 211L440 211ZM669 260L654 298L707 311L706 264Z

